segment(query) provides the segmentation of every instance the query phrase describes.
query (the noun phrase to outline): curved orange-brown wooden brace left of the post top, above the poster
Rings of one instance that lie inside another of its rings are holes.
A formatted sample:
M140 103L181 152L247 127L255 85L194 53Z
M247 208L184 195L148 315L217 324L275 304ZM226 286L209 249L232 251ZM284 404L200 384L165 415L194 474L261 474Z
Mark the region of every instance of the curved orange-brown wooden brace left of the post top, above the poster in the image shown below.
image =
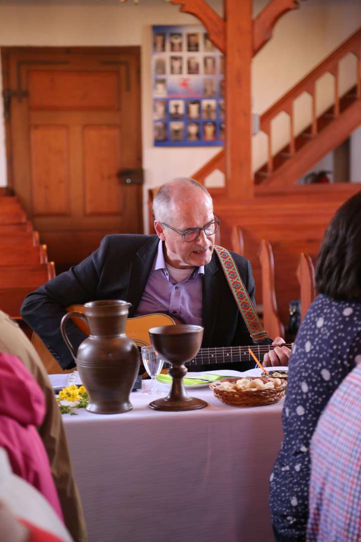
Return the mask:
M197 17L205 25L212 43L222 53L226 52L226 23L205 0L172 0L172 4L181 5L181 11Z

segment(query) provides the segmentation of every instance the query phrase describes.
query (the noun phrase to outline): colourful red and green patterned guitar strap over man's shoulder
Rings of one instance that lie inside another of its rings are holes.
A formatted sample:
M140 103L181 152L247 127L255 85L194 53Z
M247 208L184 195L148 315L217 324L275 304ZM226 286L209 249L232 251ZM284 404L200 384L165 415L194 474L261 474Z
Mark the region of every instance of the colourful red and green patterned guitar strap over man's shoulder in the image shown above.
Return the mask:
M260 343L269 339L268 333L262 326L258 314L255 311L253 303L248 295L245 285L240 277L238 268L234 263L233 257L226 248L215 245L214 250L221 262L222 269L231 288L235 302L238 305L242 318L245 321L248 331L254 343Z

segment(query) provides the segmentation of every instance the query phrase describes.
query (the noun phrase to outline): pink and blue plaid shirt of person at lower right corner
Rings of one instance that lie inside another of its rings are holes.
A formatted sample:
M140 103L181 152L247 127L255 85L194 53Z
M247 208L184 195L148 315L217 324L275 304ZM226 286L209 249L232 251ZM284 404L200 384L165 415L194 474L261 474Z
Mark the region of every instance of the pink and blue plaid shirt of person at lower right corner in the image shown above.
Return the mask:
M361 366L327 404L310 452L307 542L361 540Z

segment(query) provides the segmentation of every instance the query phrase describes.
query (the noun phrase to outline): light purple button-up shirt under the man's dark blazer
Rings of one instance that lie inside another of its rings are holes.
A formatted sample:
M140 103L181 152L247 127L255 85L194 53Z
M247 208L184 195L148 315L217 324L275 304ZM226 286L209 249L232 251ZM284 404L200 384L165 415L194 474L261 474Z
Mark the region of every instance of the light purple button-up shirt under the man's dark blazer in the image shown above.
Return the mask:
M204 266L195 267L191 276L175 282L169 275L163 255L163 243L150 272L135 316L162 312L182 320L184 324L202 325L202 279Z

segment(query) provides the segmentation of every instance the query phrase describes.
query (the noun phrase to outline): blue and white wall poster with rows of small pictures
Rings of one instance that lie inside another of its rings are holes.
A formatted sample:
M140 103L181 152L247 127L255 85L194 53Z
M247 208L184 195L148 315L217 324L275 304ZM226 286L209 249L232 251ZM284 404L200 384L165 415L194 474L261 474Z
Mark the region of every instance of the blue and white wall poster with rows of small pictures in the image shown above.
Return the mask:
M155 146L224 145L224 56L204 27L154 26L152 75Z

